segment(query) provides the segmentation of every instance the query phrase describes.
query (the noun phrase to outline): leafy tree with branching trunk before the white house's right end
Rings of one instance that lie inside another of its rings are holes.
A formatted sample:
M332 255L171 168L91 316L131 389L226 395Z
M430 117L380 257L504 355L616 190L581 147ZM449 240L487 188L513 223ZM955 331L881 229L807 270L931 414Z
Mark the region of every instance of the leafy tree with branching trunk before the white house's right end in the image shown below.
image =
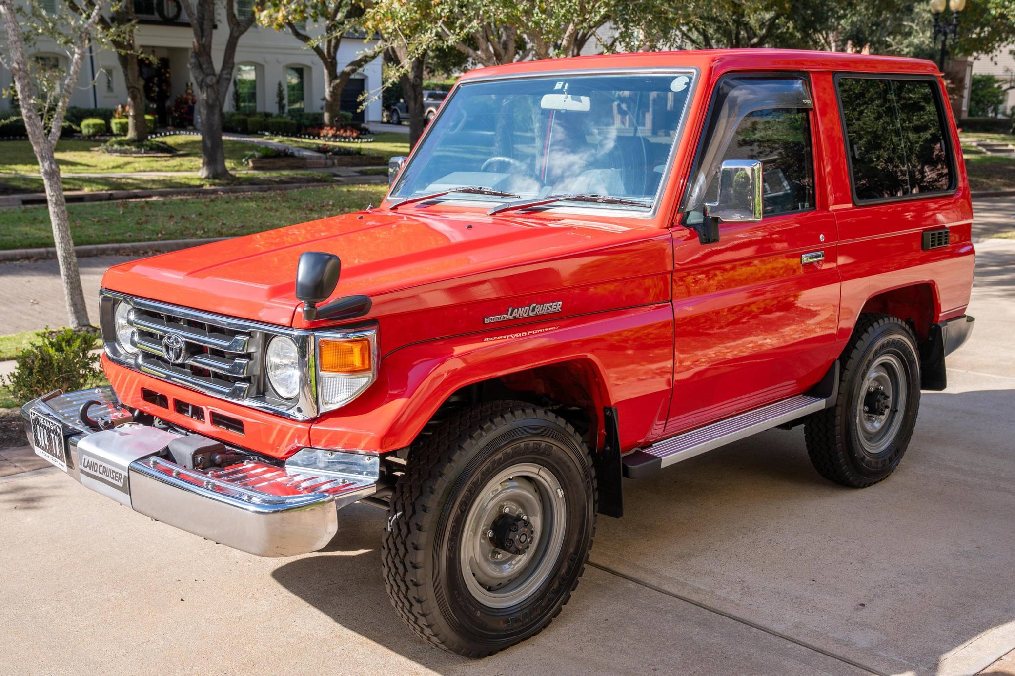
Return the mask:
M289 32L314 50L324 65L324 122L337 125L342 102L342 89L349 78L382 52L381 45L368 47L355 58L342 64L338 48L349 32L361 31L360 19L365 8L354 0L265 0L259 6L258 21L276 29L288 28ZM322 23L322 35L312 37L307 22Z

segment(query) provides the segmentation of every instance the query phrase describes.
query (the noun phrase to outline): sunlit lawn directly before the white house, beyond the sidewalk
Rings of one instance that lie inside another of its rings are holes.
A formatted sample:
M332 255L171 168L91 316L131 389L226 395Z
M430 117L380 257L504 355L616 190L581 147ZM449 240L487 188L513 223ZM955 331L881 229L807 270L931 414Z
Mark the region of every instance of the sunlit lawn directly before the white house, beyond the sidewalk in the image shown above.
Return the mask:
M162 136L162 141L180 151L173 157L144 155L112 155L93 151L98 141L65 139L57 143L57 163L64 175L104 174L122 172L197 172L201 168L201 137L191 135ZM255 146L242 141L223 141L225 165L243 168L241 160ZM0 141L0 173L37 174L39 162L26 141Z

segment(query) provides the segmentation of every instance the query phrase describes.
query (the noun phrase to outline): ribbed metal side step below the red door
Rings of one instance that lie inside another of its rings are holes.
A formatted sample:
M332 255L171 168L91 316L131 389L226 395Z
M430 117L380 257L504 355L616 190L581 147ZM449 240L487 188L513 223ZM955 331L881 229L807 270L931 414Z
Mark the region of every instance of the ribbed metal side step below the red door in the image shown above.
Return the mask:
M838 369L834 370L837 381ZM832 395L833 400L834 394ZM759 431L823 410L827 407L828 402L828 399L813 394L800 394L657 442L647 449L634 451L621 458L624 476L631 479L648 476L682 460L699 456L721 446L738 442Z

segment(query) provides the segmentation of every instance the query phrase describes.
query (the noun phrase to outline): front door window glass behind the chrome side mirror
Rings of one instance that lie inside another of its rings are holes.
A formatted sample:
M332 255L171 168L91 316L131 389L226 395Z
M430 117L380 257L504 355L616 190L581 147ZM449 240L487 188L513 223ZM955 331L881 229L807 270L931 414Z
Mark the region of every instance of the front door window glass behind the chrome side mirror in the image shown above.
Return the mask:
M723 153L724 161L761 161L765 216L814 208L813 157L810 115L804 108L754 111L740 121ZM713 184L706 201L716 197L718 181Z

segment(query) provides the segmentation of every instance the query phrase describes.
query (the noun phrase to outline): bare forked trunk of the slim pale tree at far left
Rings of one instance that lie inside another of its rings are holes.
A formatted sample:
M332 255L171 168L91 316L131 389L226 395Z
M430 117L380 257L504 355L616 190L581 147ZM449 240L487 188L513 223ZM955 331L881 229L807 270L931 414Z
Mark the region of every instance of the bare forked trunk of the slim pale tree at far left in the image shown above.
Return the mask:
M50 210L50 222L53 225L53 241L56 245L57 262L67 302L67 319L74 329L89 327L91 323L88 321L88 309L84 303L81 275L77 269L77 254L74 251L74 238L70 233L70 218L67 215L67 202L63 194L63 180L60 178L60 166L57 164L54 149L60 138L60 127L70 102L71 90L81 71L88 38L100 18L101 3L97 3L80 31L74 36L76 41L73 43L70 67L62 81L62 92L53 116L53 129L47 135L39 116L38 102L28 74L28 61L24 54L24 42L17 16L14 14L12 0L0 0L0 21L4 24L7 50L10 54L10 63L5 65L14 77L14 87L21 102L21 119L31 141L31 148L36 152L36 159L39 160L43 185L46 187L46 201Z

